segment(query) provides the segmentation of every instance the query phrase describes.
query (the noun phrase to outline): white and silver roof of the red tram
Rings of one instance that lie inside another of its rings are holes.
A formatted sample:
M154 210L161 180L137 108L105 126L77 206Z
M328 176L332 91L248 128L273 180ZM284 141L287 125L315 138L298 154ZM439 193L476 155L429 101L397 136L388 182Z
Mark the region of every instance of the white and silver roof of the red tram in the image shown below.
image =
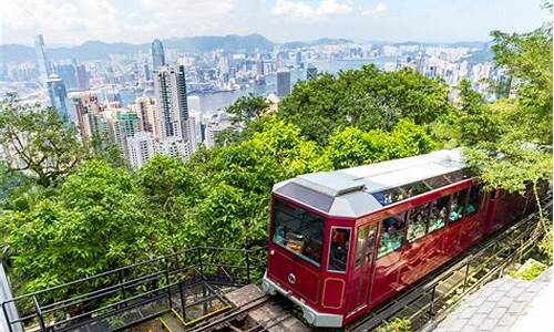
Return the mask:
M358 218L390 204L386 196L403 197L407 190L419 195L466 178L464 169L461 149L443 149L367 166L305 174L276 184L273 190L329 216Z

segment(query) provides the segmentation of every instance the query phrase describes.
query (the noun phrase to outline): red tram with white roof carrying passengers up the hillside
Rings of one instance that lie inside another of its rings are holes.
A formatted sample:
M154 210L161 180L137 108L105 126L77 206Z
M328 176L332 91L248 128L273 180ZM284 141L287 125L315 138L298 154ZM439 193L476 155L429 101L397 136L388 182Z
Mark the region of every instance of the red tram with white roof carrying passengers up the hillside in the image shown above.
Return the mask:
M531 205L483 193L460 149L301 175L274 186L263 287L343 326Z

